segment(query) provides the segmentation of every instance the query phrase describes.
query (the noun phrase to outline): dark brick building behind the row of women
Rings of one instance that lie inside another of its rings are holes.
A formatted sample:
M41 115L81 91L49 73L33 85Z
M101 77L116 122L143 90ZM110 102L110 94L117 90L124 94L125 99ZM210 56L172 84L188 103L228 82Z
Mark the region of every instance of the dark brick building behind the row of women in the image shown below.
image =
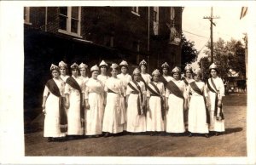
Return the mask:
M180 34L182 12L182 7L25 7L25 112L40 107L49 66L61 60L89 66L127 60L136 67L144 59L149 72L165 61L180 65L181 44L170 44L167 25Z

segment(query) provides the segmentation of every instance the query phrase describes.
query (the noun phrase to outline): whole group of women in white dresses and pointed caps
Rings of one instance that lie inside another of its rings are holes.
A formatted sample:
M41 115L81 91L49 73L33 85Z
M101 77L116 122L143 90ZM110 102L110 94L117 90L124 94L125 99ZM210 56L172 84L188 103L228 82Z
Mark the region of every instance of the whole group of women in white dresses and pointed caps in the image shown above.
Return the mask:
M201 70L187 65L185 77L177 66L168 75L169 65L161 65L162 74L147 73L147 62L128 74L123 60L113 63L111 77L108 64L102 60L90 67L73 63L67 76L67 64L51 65L52 79L44 88L44 137L48 141L74 139L81 136L108 137L114 134L183 134L189 136L209 131L224 132L222 98L224 84L217 76L217 66L209 68L207 83L201 82ZM120 73L119 73L120 69ZM192 74L194 77L192 77Z

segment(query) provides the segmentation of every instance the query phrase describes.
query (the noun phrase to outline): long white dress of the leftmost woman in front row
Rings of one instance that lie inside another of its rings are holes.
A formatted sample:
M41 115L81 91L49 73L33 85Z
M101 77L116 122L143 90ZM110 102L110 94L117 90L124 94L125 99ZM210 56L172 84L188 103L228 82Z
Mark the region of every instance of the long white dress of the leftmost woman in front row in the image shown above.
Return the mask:
M53 80L63 96L64 82L61 79L53 78ZM55 94L51 94L47 86L44 88L44 96L48 96L45 102L44 137L63 137L65 134L61 133L60 98L55 96Z

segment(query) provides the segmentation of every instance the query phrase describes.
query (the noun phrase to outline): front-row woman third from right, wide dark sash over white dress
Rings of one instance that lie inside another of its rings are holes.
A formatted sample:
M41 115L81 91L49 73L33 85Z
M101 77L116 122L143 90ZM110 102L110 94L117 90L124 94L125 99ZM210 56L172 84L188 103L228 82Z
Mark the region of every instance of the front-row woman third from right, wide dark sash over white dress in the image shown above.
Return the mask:
M187 107L185 83L180 76L181 70L176 66L172 70L173 80L166 86L166 132L177 135L185 132L183 111Z

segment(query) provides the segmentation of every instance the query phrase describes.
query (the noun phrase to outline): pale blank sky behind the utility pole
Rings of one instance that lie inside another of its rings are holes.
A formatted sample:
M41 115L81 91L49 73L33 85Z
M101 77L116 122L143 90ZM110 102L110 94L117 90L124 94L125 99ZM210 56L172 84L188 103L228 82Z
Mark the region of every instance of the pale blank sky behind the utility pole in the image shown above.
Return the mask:
M236 7L214 7L212 15L218 16L213 22L213 42L221 37L224 41L231 38L241 40L247 32L247 15L240 20L241 6ZM199 59L204 55L205 45L210 41L210 21L203 19L211 15L211 7L186 7L183 9L183 34L187 40L195 42L197 51L201 50ZM193 33L193 34L190 34Z

